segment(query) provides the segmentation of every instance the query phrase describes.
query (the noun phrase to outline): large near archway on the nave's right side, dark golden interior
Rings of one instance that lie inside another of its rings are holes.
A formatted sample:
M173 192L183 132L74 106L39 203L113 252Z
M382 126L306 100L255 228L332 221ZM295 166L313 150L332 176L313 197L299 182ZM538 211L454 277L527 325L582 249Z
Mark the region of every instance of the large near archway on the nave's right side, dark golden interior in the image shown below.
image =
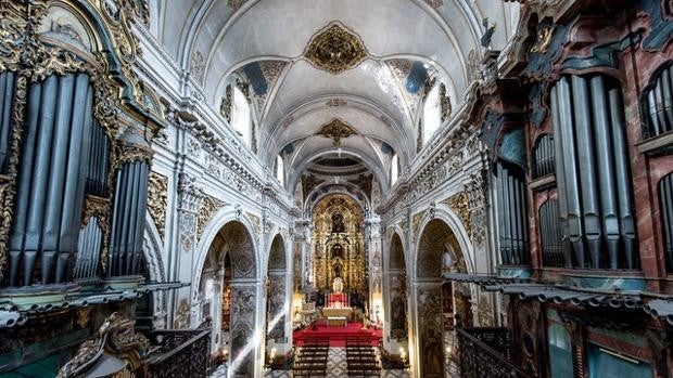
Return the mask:
M469 290L443 287L443 270L467 271L456 235L448 224L434 219L419 238L415 282L418 365L420 376L428 378L444 377L444 352L452 343L454 324L471 322Z

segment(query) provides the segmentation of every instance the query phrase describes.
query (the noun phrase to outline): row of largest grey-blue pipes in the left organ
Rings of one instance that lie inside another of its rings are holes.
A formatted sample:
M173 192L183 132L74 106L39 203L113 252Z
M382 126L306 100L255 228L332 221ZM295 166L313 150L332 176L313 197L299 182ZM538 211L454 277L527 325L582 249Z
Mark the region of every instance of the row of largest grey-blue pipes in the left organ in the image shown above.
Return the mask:
M10 235L11 286L31 285L38 261L40 283L67 276L77 249L91 112L86 74L51 76L29 88Z

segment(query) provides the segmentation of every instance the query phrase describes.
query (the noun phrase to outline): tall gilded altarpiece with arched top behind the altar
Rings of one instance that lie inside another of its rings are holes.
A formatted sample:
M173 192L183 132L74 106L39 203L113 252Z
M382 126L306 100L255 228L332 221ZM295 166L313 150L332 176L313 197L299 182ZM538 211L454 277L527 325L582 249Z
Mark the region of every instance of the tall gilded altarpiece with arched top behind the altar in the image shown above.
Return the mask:
M346 292L368 292L363 210L345 195L330 195L314 208L312 263L315 285L332 291L334 278Z

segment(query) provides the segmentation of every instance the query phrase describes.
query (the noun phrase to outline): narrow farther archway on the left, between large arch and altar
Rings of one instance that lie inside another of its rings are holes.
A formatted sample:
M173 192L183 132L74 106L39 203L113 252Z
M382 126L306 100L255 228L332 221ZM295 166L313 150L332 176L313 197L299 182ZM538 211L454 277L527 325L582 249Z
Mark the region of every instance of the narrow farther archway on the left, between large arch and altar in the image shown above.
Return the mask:
M284 353L288 344L288 329L285 326L290 304L288 298L288 264L285 260L283 239L280 235L276 235L271 242L268 260L265 329L267 349L270 348L270 352L275 350L277 353Z

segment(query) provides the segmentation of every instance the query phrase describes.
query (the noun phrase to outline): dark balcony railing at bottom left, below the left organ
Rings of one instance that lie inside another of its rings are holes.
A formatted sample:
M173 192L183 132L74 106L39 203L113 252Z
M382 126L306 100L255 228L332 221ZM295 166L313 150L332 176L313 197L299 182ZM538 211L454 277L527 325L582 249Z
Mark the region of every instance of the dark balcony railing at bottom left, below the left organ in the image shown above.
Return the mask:
M211 367L211 330L154 330L151 350L143 362L142 378L205 377Z

